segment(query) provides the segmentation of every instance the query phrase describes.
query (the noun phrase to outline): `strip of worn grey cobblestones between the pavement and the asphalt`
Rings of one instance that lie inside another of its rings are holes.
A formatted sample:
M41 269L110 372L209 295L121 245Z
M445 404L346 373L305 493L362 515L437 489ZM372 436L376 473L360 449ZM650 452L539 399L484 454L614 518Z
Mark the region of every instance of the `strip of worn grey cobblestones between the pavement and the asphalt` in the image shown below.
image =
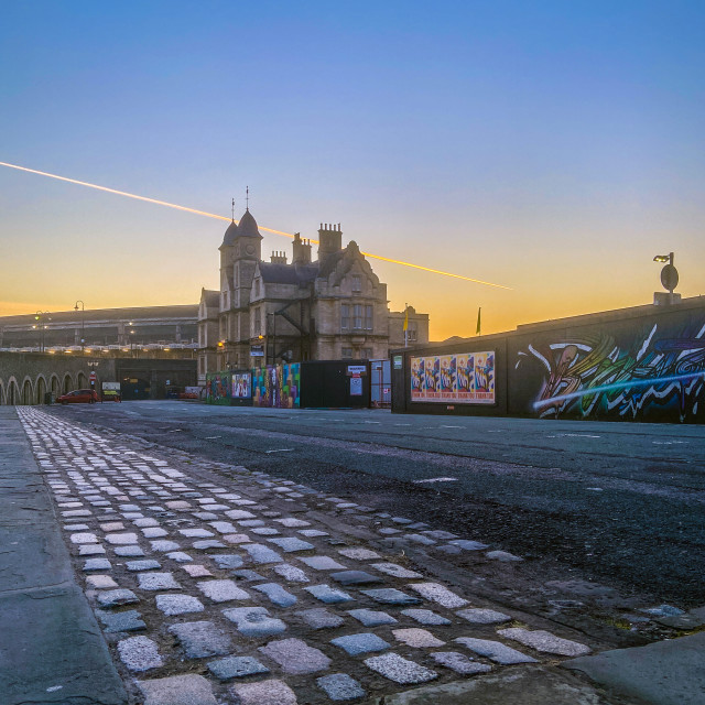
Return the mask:
M487 553L471 536L18 412L134 703L355 702L598 647L476 604L398 547Z

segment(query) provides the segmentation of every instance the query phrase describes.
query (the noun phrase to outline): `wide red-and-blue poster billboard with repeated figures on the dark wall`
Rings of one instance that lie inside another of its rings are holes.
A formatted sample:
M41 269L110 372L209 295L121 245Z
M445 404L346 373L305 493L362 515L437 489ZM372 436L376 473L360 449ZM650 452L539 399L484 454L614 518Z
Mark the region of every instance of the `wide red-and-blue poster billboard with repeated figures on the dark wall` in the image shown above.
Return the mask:
M495 403L495 351L411 358L411 401Z

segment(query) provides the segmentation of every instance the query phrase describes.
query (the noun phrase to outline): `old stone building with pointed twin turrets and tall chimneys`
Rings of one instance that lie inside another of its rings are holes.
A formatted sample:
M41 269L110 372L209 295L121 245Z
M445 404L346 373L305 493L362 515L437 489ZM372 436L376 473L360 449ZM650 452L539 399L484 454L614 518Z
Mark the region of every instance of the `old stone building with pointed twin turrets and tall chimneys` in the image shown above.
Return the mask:
M220 245L220 290L204 289L198 307L198 379L206 372L281 361L380 359L403 347L405 313L390 312L380 282L357 243L321 224L317 260L294 236L262 260L262 236L249 212ZM408 308L410 344L429 341L429 315Z

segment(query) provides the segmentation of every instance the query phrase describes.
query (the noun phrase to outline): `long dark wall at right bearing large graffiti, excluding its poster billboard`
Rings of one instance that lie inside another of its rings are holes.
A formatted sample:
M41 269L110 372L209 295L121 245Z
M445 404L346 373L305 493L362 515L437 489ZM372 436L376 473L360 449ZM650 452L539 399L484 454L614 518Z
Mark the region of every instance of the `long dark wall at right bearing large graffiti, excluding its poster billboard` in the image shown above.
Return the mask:
M436 399L412 394L419 358L484 351L494 355L492 403L452 400L431 389L433 376L426 389ZM705 297L394 350L391 358L397 413L705 423Z

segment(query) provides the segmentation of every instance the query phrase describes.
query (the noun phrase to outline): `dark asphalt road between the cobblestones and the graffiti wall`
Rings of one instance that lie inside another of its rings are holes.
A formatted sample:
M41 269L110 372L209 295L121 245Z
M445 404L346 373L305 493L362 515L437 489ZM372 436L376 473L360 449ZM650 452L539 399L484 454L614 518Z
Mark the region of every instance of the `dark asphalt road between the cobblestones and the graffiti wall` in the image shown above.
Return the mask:
M290 411L51 408L687 607L705 603L705 427Z

